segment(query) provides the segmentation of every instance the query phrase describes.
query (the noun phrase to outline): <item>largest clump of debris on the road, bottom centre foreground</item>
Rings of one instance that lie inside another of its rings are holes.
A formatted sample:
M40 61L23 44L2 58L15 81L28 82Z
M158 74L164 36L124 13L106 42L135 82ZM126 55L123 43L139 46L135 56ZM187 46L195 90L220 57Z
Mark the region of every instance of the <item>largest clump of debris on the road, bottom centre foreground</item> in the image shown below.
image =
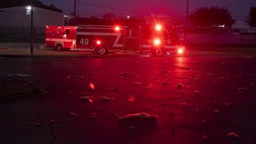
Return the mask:
M151 115L151 114L147 114L147 113L137 113L137 114L126 114L122 117L119 117L119 119L121 121L137 121L137 120L153 120L156 121L157 120L157 116L156 115Z

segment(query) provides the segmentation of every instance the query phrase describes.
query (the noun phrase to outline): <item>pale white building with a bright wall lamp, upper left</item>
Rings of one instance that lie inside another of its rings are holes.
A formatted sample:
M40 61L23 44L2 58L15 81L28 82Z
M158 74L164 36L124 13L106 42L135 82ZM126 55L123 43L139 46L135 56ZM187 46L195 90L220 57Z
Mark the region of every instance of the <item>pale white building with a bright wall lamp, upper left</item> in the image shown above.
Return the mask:
M44 33L46 25L64 25L64 14L34 7L33 22L37 33ZM31 7L0 9L1 28L30 28Z

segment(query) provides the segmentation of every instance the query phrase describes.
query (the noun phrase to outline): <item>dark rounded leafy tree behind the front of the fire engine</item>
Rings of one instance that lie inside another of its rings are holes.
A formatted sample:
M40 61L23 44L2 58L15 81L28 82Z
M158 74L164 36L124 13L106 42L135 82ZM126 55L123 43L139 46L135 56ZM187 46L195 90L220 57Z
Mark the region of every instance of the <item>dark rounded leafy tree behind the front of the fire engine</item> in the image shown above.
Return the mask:
M228 8L216 6L197 8L190 15L190 20L193 21L195 26L199 27L217 27L217 25L231 27L235 23Z

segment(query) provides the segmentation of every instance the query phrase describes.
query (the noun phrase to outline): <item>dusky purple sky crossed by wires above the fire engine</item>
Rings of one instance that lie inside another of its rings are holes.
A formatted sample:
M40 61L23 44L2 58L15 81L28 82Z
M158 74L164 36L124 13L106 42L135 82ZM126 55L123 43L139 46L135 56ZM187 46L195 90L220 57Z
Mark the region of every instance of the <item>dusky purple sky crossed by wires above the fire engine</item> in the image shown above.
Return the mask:
M76 0L77 13L81 17L102 17L105 12L112 12L116 16L149 16L152 11L155 15L169 15L176 18L185 18L187 0ZM73 11L74 0L41 0L44 4L53 4L63 10L65 14ZM86 2L88 4L85 4ZM98 5L93 6L93 5ZM236 21L245 21L250 7L256 7L256 0L190 0L189 12L193 12L198 7L209 7L211 5L228 7ZM131 11L103 8L111 7ZM150 10L149 10L150 9ZM140 11L140 12L139 12ZM143 11L143 12L141 12Z

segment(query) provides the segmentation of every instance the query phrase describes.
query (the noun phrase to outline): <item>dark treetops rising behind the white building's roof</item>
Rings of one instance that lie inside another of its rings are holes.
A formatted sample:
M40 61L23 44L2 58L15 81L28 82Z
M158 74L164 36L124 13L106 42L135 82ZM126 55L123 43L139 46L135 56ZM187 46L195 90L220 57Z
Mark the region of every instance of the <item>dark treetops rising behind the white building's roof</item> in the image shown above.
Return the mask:
M0 0L0 8L25 6L25 5L30 5L30 2L31 2L30 0ZM44 5L43 2L39 0L33 0L33 5L34 7L48 9L56 12L62 12L61 9L55 8L53 4L50 6Z

